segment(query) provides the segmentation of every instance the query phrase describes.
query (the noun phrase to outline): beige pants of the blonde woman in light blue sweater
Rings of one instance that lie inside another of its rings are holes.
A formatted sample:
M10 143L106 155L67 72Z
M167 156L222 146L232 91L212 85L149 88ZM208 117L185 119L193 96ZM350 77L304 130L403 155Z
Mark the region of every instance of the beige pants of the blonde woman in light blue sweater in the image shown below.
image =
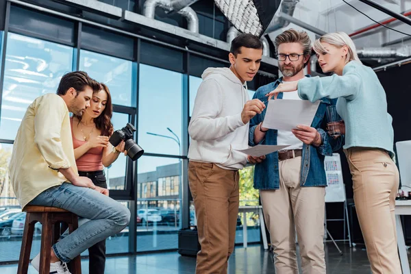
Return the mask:
M401 273L394 214L397 166L382 149L353 147L344 152L371 270L373 274Z

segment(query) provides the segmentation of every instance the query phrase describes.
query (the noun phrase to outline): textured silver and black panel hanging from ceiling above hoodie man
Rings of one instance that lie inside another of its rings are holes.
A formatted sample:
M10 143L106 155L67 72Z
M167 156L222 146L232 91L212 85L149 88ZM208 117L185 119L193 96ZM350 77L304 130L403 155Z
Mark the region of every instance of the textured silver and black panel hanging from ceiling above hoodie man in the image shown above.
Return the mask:
M214 2L236 29L260 37L269 27L281 0L214 0Z

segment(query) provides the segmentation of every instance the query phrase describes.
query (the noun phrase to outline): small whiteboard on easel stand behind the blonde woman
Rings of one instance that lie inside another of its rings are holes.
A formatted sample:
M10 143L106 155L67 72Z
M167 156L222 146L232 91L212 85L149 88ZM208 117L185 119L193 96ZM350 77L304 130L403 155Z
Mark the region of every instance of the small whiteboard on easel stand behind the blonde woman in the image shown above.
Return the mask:
M340 154L333 153L325 156L325 175L327 176L327 187L325 188L325 203L336 203L345 201L345 186L343 171L341 169Z

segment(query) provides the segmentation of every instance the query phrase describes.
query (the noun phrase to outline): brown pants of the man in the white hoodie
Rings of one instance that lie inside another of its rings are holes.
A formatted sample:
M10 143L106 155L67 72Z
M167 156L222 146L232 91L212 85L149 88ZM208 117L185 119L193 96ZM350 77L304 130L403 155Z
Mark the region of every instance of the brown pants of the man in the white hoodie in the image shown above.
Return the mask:
M188 163L188 184L201 244L197 254L197 274L227 273L227 262L236 237L238 180L238 171L221 169L210 163Z

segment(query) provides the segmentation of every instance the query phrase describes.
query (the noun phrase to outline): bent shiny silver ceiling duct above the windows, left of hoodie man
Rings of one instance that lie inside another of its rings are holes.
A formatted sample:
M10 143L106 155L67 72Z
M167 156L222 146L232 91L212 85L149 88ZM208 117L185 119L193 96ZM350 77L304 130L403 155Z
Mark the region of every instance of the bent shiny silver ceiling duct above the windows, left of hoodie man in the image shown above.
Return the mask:
M159 7L166 12L173 11L173 1L170 0L147 0L142 8L142 14L148 18L154 18L155 8ZM187 1L185 1L187 2ZM192 1L194 3L194 1ZM190 7L182 8L177 12L181 16L184 16L187 20L188 30L190 32L199 33L199 18L195 11Z

